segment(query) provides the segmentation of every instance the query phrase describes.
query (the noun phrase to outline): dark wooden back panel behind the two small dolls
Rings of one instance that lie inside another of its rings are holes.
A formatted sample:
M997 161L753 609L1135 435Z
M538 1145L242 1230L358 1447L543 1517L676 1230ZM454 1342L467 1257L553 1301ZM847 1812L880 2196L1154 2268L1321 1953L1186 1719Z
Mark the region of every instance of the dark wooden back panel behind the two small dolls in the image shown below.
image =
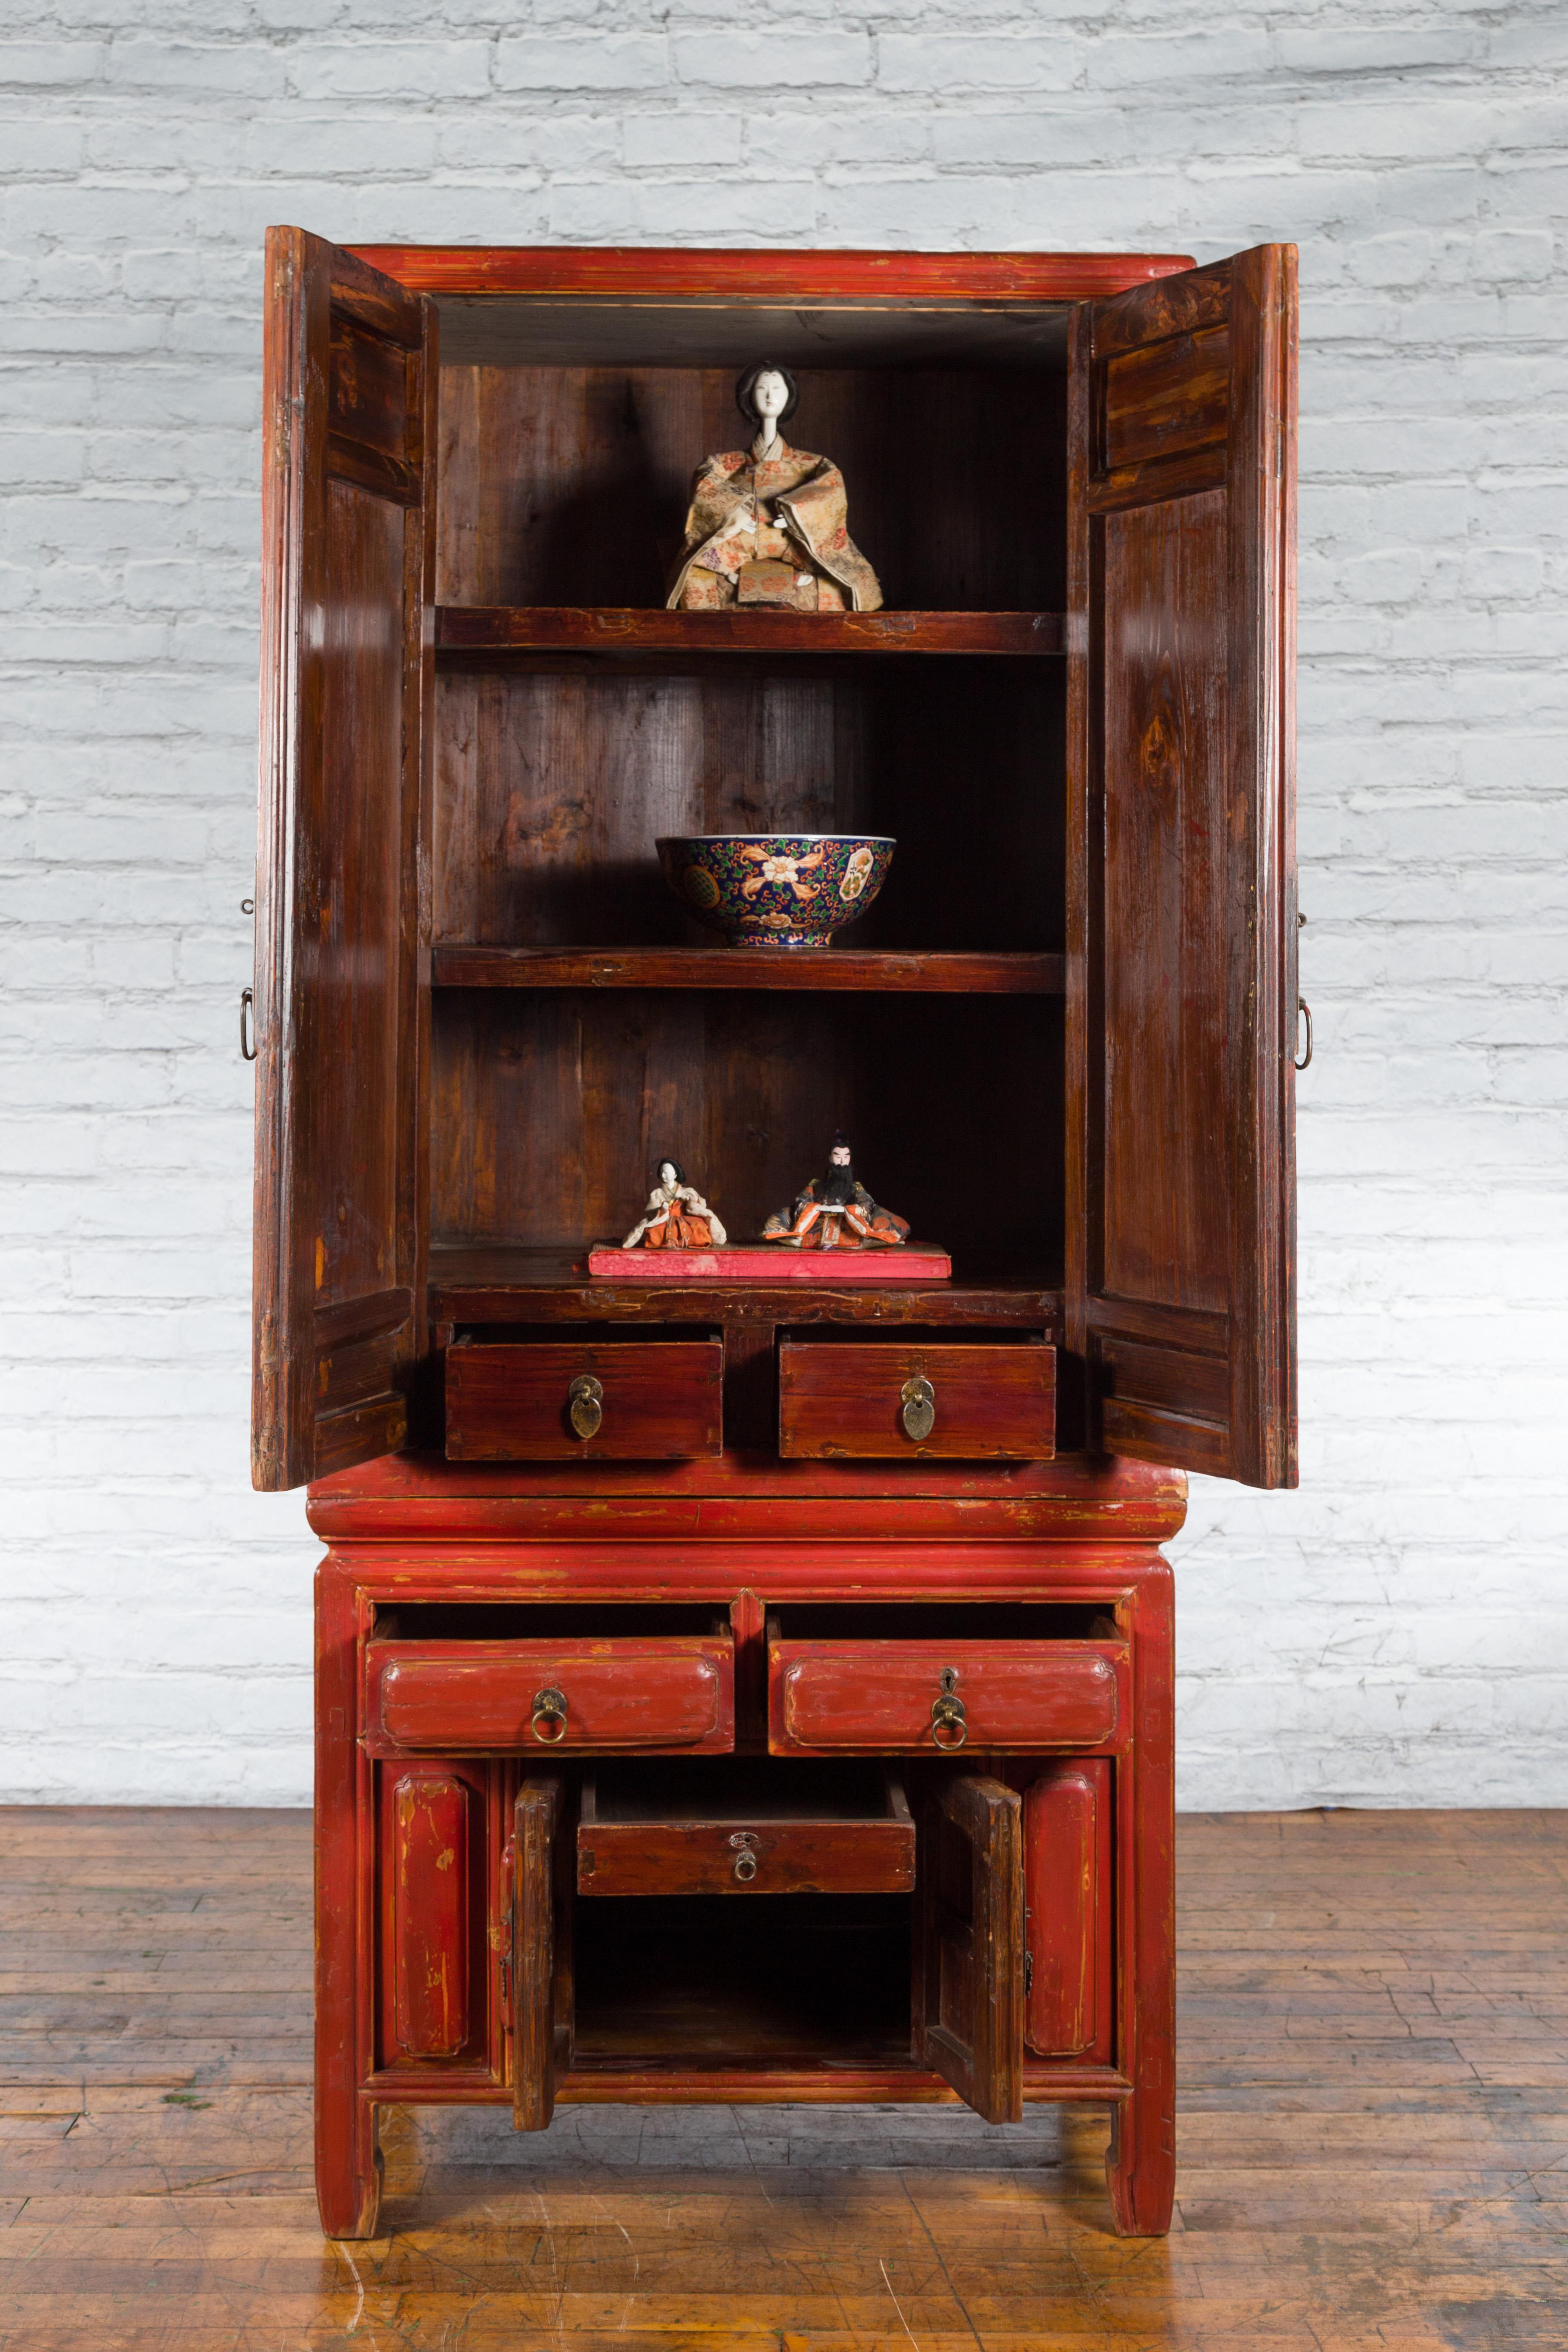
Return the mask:
M433 1240L616 1242L661 1152L755 1240L839 1129L875 1197L959 1272L1051 1268L1060 1000L983 1002L976 1018L924 993L442 990Z

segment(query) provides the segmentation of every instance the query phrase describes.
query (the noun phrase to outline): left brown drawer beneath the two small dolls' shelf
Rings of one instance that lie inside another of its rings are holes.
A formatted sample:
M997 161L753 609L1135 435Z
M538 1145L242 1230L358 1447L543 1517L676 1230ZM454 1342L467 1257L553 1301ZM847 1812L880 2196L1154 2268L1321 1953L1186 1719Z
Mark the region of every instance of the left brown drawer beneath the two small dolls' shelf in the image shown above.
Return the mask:
M724 1451L724 1343L564 1341L447 1350L447 1461L705 1461Z

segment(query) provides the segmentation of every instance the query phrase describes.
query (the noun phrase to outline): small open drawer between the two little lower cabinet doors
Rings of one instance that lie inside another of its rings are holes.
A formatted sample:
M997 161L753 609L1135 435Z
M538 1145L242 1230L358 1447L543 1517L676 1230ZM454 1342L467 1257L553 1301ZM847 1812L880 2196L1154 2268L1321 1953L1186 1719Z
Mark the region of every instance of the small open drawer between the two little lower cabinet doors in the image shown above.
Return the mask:
M708 1785L703 1788L701 1780ZM651 1766L583 1780L581 1896L903 1896L914 1820L891 1773L766 1766L696 1776Z

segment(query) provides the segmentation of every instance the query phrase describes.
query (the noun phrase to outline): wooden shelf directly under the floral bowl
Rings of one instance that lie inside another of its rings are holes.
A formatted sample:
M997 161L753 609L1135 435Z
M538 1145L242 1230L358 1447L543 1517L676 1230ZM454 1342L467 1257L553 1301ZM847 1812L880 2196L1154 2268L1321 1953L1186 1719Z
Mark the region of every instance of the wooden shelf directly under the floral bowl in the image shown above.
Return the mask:
M792 988L1060 997L1060 955L900 948L435 948L437 988Z

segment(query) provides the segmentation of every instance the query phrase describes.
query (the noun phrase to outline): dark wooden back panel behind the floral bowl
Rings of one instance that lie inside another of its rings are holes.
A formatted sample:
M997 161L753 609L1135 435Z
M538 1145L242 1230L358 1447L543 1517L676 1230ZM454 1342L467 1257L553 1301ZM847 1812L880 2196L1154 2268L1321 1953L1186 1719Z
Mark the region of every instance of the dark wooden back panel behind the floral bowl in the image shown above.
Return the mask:
M444 673L435 936L712 948L658 835L879 833L842 948L1056 953L1063 694L1060 663L959 656Z

